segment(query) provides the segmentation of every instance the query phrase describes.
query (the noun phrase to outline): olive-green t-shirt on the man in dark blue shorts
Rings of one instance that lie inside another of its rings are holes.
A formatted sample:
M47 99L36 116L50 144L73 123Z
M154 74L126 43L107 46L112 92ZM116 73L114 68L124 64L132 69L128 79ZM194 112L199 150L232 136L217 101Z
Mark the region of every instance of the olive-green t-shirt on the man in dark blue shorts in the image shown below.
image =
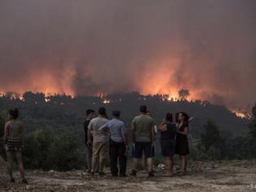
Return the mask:
M148 115L138 115L133 119L134 142L152 142L153 118Z

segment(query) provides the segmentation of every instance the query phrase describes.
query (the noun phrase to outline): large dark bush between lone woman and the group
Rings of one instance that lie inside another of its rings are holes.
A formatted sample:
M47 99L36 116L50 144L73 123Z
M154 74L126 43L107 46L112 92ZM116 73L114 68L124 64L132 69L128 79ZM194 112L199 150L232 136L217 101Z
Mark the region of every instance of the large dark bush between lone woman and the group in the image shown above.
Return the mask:
M71 132L57 135L49 129L38 130L26 135L24 164L29 169L81 169L85 165L85 150L81 143Z

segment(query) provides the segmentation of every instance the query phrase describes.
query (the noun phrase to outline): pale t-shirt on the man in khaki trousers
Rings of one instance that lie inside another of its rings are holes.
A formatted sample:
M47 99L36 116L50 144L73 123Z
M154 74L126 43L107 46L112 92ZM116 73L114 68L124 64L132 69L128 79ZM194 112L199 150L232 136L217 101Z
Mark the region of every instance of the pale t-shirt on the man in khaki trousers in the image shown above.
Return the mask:
M109 136L102 131L99 131L99 128L102 125L105 125L107 122L109 122L109 119L97 117L92 118L91 122L88 125L88 132L92 131L93 136L93 142L108 142Z

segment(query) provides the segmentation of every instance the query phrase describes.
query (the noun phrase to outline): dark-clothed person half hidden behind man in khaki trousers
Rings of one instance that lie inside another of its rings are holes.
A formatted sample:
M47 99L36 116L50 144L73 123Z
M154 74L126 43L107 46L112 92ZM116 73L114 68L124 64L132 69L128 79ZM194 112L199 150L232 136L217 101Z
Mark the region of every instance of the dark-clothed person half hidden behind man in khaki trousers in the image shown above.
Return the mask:
M91 122L92 118L94 118L94 113L92 109L88 109L86 111L86 120L84 123L85 129L85 149L86 149L86 163L87 163L87 173L91 173L92 171L92 144L88 145L88 125ZM91 138L93 141L93 138Z

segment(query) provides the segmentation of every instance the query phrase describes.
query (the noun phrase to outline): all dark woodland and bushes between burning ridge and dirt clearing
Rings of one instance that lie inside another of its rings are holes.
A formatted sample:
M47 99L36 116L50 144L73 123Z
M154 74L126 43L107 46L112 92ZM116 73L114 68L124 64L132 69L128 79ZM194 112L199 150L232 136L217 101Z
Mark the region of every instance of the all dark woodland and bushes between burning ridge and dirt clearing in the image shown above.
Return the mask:
M238 117L225 106L209 101L188 101L188 95L189 91L185 90L179 92L178 98L137 92L74 98L31 91L22 95L6 93L0 96L0 135L2 138L8 109L19 108L20 119L26 127L24 162L27 168L85 169L83 123L86 109L97 111L104 106L109 118L112 110L120 110L129 129L133 117L139 114L139 106L147 105L156 125L161 123L166 112L185 111L195 117L189 134L191 160L256 157L256 105L251 115ZM159 153L158 139L156 145ZM5 156L2 147L1 154ZM155 163L161 160L157 155Z

